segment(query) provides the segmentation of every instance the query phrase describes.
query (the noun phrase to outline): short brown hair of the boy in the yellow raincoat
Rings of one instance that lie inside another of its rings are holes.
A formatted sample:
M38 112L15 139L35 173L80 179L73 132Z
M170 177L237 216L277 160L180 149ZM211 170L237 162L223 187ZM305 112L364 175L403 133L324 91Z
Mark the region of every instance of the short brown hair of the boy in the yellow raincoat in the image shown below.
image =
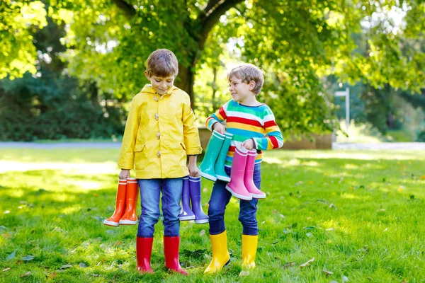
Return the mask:
M177 76L179 74L179 61L176 55L167 49L159 49L152 52L147 58L146 71L149 76Z

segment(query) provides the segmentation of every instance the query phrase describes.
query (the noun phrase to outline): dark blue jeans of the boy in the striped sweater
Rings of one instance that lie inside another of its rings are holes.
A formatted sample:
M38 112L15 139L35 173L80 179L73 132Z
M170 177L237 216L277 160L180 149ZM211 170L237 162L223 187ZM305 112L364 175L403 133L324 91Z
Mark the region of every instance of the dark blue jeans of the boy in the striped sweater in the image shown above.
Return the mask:
M225 167L227 175L230 168ZM254 184L260 189L261 185L261 163L254 166ZM226 190L227 182L216 180L212 187L208 216L210 217L210 235L217 235L226 230L225 210L232 194ZM244 235L258 235L259 227L256 221L257 203L259 200L239 200L239 221L242 223Z

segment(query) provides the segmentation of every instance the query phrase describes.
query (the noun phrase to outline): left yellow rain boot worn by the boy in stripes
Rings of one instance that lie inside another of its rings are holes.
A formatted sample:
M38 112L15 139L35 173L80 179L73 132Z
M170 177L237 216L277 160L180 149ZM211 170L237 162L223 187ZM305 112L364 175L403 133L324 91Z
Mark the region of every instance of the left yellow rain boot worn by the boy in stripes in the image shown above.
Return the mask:
M217 235L210 235L212 260L204 273L217 272L227 265L230 261L229 251L227 250L226 231Z

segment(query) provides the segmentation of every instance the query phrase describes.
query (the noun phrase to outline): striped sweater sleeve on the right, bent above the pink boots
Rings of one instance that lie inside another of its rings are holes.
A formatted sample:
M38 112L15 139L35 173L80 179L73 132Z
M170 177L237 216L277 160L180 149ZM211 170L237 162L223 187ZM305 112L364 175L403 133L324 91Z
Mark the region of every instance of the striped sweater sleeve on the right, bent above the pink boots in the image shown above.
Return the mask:
M266 137L254 137L254 146L260 150L278 149L283 146L283 136L270 108L263 117L263 129Z

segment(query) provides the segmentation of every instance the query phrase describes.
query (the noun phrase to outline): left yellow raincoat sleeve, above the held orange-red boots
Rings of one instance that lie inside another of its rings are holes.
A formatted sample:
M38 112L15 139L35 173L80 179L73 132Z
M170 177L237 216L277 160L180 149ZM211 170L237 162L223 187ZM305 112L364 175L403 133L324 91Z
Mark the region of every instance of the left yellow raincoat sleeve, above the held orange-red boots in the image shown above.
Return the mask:
M133 168L135 158L134 150L139 125L139 105L135 98L133 98L130 112L128 112L127 122L125 122L123 143L121 144L120 158L118 159L118 167L121 169L130 170Z

